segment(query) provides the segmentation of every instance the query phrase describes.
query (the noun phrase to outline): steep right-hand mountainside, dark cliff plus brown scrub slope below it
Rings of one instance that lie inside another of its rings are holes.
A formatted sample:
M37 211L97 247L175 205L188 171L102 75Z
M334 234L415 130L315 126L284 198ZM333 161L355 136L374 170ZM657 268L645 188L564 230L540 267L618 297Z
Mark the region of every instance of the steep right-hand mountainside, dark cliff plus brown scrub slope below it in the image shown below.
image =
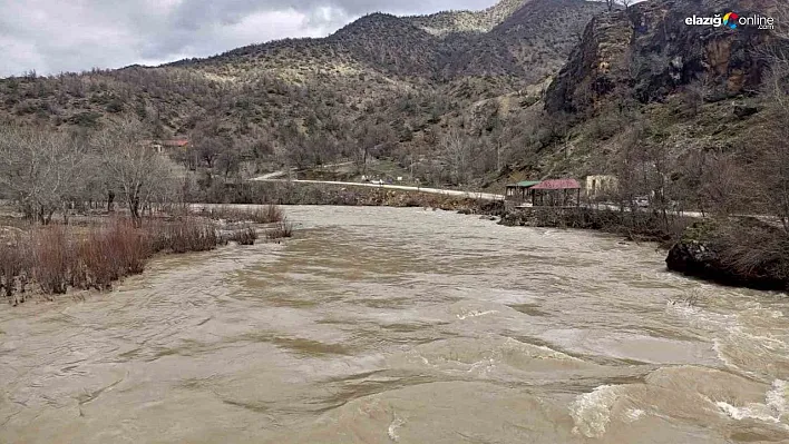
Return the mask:
M733 181L757 182L761 174L749 169L776 150L789 152L789 109L781 106L789 102L787 29L780 21L776 29L685 21L728 11L779 18L787 9L772 0L653 0L595 16L546 89L539 121L551 131L526 140L520 161L501 180L627 177L634 165L660 166L661 189L715 199L733 190ZM643 179L630 181L637 189Z

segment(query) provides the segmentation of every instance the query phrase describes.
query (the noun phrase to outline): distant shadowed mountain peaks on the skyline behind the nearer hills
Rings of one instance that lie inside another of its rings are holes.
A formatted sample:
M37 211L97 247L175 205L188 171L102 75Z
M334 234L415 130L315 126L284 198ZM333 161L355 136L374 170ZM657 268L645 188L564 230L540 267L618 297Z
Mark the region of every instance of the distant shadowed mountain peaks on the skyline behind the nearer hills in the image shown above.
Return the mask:
M240 67L247 72L281 71L292 62L303 71L344 67L405 79L494 75L532 81L555 73L586 22L602 10L598 2L584 0L503 0L479 12L403 18L372 13L325 39L253 45L173 66L227 75ZM464 17L477 17L485 26L464 24Z

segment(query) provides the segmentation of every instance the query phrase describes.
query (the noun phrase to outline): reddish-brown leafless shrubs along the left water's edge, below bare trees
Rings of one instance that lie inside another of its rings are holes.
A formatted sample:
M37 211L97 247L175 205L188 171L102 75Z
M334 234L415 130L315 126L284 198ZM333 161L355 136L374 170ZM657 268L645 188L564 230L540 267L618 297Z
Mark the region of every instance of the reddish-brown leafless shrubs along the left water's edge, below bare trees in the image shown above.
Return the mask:
M261 210L234 209L241 220L276 215L267 239L291 237L293 226L276 206ZM31 294L52 299L69 289L105 290L126 276L143 273L157 253L207 251L234 241L253 245L257 229L250 224L222 227L198 216L99 219L88 226L30 226L0 241L0 292L12 305Z

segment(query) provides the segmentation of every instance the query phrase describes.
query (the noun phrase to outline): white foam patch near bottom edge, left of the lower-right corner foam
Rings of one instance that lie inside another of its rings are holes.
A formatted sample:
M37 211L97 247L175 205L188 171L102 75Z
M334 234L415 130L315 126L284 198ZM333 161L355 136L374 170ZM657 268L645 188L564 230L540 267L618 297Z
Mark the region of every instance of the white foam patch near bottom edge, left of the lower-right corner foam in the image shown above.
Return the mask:
M611 422L611 410L620 396L622 386L601 385L591 393L575 398L569 406L569 415L575 422L573 433L586 437L601 437Z

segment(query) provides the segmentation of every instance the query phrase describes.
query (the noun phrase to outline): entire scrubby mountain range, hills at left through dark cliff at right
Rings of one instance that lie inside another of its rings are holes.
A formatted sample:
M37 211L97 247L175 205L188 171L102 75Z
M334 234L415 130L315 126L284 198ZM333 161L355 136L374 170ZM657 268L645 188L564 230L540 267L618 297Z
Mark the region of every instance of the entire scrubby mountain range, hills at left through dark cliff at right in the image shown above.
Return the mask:
M231 147L252 169L369 154L436 184L611 172L634 146L678 161L766 131L776 118L767 56L785 40L685 18L777 4L651 0L608 12L504 0L476 12L372 13L322 39L2 79L0 120L89 131L134 117L146 138L221 139L202 145Z

